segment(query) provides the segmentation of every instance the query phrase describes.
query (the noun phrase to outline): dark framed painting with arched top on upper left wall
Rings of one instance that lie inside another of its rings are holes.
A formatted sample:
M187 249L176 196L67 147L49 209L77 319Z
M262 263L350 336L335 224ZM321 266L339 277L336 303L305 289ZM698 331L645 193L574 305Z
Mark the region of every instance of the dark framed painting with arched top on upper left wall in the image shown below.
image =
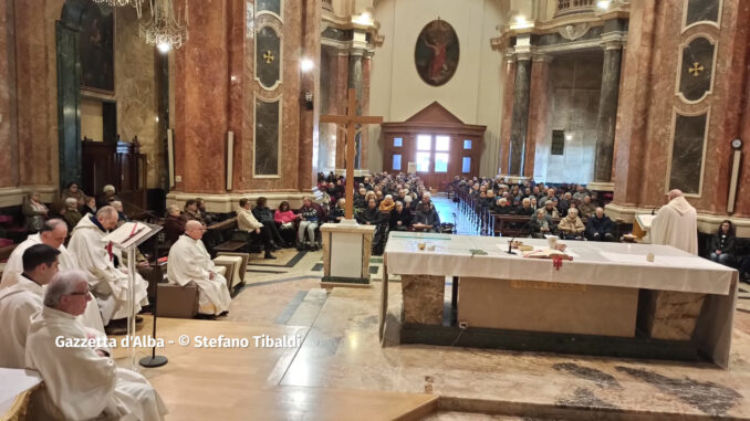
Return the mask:
M81 88L115 93L115 11L90 3L81 18L79 39Z

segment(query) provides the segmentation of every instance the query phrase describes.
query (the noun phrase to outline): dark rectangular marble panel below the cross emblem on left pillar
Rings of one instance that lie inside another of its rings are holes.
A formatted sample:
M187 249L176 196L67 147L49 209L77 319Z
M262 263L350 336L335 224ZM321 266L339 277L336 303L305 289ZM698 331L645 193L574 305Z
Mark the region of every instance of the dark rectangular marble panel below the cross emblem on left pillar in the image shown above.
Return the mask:
M254 176L279 175L279 102L256 99Z

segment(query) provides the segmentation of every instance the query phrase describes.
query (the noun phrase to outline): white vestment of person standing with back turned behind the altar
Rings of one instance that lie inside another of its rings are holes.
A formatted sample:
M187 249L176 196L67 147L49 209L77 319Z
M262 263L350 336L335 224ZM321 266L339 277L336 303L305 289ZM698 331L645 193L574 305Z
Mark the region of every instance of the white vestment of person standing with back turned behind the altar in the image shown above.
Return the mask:
M662 207L652 221L653 244L666 244L698 255L696 209L679 196Z

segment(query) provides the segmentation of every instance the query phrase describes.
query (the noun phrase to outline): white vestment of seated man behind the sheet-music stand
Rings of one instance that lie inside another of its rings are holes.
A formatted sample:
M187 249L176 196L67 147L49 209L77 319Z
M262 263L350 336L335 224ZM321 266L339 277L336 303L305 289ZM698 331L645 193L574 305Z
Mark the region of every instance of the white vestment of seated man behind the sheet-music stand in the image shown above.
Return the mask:
M112 319L129 316L128 275L115 267L113 256L107 251L108 243L102 240L106 234L90 217L84 217L73 229L73 236L67 244L69 251L79 261L79 267L88 273L88 285L98 301L105 325ZM135 312L138 313L142 305L148 304L148 283L137 273L134 276Z

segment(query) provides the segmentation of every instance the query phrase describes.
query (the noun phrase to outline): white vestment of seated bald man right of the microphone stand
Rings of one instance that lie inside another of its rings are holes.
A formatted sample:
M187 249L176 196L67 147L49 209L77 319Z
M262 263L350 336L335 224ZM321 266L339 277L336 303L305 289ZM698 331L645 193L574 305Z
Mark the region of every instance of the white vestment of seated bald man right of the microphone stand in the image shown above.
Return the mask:
M167 277L170 282L183 286L195 282L200 288L200 313L218 315L229 311L231 296L227 280L218 272L202 241L180 235L169 249L167 262ZM213 276L209 280L211 274Z

